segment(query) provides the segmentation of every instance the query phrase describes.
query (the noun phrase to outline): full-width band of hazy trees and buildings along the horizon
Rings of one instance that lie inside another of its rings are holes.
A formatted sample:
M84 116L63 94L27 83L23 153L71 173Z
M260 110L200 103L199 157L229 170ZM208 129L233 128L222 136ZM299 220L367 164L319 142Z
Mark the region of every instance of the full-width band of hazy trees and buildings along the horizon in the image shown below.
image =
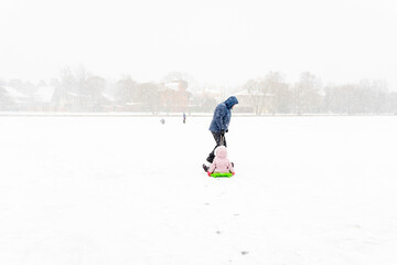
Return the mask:
M161 82L139 83L130 76L108 81L85 68L61 71L47 82L0 80L0 112L213 112L216 104L236 95L235 112L256 115L397 114L397 93L384 81L323 85L309 72L298 82L286 82L282 73L269 72L233 91L192 86L189 74L172 72Z

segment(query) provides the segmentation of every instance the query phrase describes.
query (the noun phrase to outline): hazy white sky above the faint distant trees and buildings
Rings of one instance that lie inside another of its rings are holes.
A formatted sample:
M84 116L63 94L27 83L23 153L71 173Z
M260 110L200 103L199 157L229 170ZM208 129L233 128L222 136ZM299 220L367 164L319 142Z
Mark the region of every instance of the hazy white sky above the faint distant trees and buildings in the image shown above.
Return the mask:
M243 84L281 71L324 83L397 86L389 0L1 0L0 78L47 80L65 66L107 78ZM391 87L390 87L391 88Z

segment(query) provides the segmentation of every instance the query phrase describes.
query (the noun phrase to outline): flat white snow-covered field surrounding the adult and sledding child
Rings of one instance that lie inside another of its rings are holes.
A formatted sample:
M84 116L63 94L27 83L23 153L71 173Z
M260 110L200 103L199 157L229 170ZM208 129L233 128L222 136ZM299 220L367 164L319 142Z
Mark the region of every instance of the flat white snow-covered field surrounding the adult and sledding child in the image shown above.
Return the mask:
M2 265L395 265L396 117L0 117Z

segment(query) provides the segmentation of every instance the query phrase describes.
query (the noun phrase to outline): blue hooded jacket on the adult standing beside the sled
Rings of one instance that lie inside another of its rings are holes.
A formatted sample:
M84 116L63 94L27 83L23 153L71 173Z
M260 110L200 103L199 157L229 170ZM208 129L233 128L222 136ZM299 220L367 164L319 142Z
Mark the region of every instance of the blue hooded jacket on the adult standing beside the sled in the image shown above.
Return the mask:
M230 96L225 102L218 104L214 110L214 116L211 121L210 130L213 132L221 132L221 130L227 130L232 118L232 107L238 104L235 96Z

